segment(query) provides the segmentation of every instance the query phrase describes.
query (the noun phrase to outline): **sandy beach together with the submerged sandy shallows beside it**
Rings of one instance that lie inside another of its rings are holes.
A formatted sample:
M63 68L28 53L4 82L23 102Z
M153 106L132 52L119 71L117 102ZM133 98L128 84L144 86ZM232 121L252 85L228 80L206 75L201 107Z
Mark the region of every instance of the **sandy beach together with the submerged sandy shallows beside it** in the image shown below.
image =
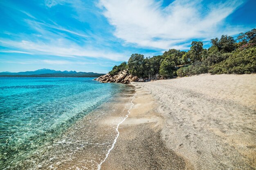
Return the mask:
M124 86L18 167L256 168L256 74Z

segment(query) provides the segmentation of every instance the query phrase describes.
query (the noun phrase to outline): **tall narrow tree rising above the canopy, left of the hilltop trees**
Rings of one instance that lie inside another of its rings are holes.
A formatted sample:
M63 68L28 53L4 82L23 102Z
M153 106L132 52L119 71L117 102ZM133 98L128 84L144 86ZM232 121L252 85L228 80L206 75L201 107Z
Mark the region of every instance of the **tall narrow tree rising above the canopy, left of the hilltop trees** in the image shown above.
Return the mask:
M189 50L190 61L194 63L195 61L201 61L203 52L203 42L202 41L192 41Z

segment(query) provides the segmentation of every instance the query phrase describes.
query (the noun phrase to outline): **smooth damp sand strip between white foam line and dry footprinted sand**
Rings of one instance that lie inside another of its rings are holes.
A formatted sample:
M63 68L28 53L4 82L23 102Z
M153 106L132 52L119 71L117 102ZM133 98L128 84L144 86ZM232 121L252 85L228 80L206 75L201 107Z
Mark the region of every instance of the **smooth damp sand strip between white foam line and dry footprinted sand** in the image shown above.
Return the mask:
M155 108L156 100L138 86L136 94L134 107L120 124L119 138L101 169L187 169L186 160L169 150L161 139L164 118Z

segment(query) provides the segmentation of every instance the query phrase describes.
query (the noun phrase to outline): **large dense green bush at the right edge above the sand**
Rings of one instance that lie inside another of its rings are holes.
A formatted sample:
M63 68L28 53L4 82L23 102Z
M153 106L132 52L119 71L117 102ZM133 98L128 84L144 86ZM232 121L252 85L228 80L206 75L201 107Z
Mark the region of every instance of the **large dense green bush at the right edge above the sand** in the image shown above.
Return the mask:
M213 65L211 74L249 74L256 72L256 47L236 50L229 58Z

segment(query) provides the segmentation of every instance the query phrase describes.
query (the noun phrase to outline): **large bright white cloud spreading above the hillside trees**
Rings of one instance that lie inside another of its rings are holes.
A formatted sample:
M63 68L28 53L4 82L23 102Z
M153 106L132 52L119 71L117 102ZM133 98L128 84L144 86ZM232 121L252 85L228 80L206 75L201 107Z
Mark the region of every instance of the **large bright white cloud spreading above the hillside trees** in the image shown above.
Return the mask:
M239 33L243 29L231 28L224 22L243 1L205 5L202 0L175 0L167 7L162 7L161 3L155 0L100 0L99 7L115 26L114 35L139 47L187 49L183 43L189 39L208 39L223 33Z

